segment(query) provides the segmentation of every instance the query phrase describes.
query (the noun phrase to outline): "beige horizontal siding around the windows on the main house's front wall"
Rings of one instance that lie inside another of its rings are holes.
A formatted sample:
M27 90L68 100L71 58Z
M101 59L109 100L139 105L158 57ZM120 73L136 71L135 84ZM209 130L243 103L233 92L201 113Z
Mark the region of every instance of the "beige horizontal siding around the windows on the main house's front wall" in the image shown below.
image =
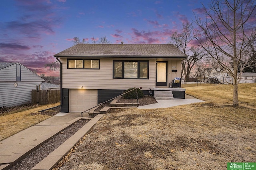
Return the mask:
M124 60L117 58L115 60ZM126 59L142 60L142 59ZM156 60L149 60L149 79L114 79L113 59L100 59L100 69L67 69L67 58L62 62L62 88L68 89L109 89L126 90L132 87L142 87L148 90L156 86ZM64 75L64 76L63 76Z

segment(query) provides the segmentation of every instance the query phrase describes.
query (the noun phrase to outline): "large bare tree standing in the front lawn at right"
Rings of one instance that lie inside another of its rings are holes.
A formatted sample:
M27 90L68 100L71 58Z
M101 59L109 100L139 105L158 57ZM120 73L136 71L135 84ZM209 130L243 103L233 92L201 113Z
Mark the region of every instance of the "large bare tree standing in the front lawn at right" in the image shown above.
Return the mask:
M244 66L249 64L250 45L246 43L246 35L251 35L255 26L255 21L249 23L255 17L252 15L255 7L255 0L212 0L208 8L204 6L205 18L196 16L196 39L233 78L233 106L238 106L238 83Z

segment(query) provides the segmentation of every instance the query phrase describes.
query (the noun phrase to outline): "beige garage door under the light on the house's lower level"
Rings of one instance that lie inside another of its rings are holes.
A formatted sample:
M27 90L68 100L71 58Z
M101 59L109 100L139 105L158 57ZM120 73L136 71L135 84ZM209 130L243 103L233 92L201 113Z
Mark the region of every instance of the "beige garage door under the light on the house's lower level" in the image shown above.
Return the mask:
M82 112L96 106L98 91L88 89L70 89L69 111Z

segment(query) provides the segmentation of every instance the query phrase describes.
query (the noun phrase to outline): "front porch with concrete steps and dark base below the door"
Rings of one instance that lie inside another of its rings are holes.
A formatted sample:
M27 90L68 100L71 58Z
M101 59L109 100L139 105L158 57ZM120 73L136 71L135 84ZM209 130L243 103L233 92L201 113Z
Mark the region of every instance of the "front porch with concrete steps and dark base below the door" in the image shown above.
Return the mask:
M173 100L173 98L184 99L186 91L184 88L153 88L153 90L156 100ZM166 98L167 96L168 98Z

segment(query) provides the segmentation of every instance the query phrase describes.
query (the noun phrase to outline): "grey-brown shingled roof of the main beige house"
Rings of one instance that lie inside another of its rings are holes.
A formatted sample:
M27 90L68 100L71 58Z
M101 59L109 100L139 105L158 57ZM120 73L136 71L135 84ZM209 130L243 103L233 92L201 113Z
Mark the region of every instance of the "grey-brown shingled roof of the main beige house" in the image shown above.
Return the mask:
M54 57L141 57L186 59L172 44L77 44Z

